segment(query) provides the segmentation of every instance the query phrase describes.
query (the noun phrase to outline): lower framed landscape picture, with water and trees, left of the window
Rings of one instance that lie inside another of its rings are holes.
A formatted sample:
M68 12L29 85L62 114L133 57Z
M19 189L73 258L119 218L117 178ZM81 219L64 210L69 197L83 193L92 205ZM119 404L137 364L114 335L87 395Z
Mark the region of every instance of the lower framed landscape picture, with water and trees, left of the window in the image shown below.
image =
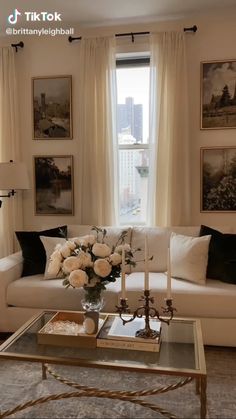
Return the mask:
M73 157L34 156L35 214L73 215Z

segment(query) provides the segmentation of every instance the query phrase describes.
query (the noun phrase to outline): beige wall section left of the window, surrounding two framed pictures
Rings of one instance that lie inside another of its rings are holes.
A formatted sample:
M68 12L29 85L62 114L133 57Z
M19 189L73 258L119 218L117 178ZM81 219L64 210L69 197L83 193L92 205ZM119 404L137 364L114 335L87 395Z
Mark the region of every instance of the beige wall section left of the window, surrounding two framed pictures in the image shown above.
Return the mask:
M79 215L46 216L34 215L34 176L33 156L40 155L73 155L74 163L74 207L80 199L79 176L79 139L78 139L78 71L79 62L76 46L71 45L66 37L25 39L24 51L17 53L19 72L19 96L21 103L21 138L22 157L27 162L31 173L30 191L24 192L24 225L25 228L41 228L46 225L76 224ZM31 77L72 75L72 140L32 140L32 89Z

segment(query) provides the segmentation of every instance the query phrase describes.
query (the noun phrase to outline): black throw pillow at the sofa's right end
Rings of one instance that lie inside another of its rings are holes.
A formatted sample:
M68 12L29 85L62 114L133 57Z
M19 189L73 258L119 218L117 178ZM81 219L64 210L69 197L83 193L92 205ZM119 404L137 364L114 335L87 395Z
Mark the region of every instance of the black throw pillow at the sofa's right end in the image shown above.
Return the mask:
M201 225L200 236L211 235L207 278L236 284L236 234L224 234Z

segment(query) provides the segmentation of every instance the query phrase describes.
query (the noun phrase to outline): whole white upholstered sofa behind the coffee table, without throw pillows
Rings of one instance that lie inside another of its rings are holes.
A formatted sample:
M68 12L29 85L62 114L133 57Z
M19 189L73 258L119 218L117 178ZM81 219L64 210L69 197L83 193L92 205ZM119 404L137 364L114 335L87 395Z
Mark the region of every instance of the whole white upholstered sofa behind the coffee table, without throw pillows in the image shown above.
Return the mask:
M108 229L109 230L109 229ZM110 239L122 228L111 228ZM161 310L166 297L167 249L171 232L198 236L200 227L142 228L129 229L128 241L132 247L144 248L145 235L149 243L150 289L155 306ZM232 228L218 228L234 233ZM89 226L68 226L68 237L87 234ZM109 239L109 240L110 240ZM140 252L139 259L143 258ZM23 258L17 252L0 259L0 332L15 331L32 315L43 309L81 310L82 289L65 288L62 279L43 279L43 275L21 277ZM127 298L131 310L140 302L144 288L144 263L138 263L127 276ZM114 312L121 297L120 280L110 283L104 291L104 311ZM200 318L204 344L236 347L236 285L207 279L197 284L172 278L173 305L176 317Z

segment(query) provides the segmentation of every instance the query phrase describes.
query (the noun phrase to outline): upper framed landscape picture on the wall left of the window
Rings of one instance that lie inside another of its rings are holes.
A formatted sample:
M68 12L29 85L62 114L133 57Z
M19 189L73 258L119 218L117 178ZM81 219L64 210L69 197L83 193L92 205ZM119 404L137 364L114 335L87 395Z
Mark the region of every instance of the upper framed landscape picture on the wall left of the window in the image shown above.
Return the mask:
M71 76L32 79L33 139L72 139Z

